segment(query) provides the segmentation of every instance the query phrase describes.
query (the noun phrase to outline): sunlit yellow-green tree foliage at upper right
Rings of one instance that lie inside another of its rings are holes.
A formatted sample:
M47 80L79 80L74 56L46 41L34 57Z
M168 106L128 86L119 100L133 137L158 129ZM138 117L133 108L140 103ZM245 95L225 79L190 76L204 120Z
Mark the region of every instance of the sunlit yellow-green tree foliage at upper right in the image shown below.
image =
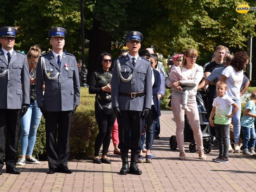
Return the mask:
M165 42L160 52L183 52L189 47L213 52L223 44L229 48L245 49L248 34L255 33L256 11L239 14L238 0L157 0L168 12L158 24L164 35L150 36L151 42ZM255 7L255 1L248 1ZM160 11L160 10L159 10ZM162 10L163 11L163 10ZM167 29L169 34L166 33ZM164 37L165 40L162 40Z

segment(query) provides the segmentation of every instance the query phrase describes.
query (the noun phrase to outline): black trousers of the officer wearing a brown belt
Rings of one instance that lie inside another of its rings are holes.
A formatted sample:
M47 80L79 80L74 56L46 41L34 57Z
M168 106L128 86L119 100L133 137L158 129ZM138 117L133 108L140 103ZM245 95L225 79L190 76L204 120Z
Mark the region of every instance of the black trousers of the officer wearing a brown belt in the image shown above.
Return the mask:
M121 111L118 118L119 149L121 152L139 153L141 150L141 132L143 128L141 111Z

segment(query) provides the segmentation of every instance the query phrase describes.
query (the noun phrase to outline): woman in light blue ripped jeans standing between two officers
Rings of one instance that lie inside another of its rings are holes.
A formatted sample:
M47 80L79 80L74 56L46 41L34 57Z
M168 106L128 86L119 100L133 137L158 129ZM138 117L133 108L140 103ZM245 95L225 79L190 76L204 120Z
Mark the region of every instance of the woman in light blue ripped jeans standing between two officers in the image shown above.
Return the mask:
M33 149L36 143L37 128L40 124L42 113L37 107L36 100L36 66L41 49L34 45L27 53L27 63L30 76L30 105L27 113L21 117L21 134L20 134L20 159L17 165L39 164L40 162L32 157Z

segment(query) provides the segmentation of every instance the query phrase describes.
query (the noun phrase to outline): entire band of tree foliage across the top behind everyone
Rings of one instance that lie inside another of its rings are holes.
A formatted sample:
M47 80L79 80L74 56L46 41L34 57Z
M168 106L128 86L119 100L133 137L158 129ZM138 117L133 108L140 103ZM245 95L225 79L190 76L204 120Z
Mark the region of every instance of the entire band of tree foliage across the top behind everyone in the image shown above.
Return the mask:
M51 48L47 32L53 26L67 29L65 49L81 58L80 0L0 0L0 25L18 27L16 49L35 43ZM246 48L255 34L256 11L239 14L242 0L84 0L85 38L90 40L89 69L96 69L102 51L125 46L128 31L143 33L142 49L154 45L166 57L189 47L208 55L223 44L233 51ZM255 0L247 1L256 7ZM205 54L205 55L207 55Z

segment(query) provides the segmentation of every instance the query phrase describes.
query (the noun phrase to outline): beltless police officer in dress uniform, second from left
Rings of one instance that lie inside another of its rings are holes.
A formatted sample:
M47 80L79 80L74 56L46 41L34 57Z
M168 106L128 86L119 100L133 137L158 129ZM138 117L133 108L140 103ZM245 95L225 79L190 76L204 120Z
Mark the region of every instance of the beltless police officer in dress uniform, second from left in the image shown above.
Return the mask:
M67 167L69 135L72 115L79 105L80 83L76 58L63 52L66 33L62 27L49 30L53 49L37 63L37 104L46 119L47 174L73 172Z

